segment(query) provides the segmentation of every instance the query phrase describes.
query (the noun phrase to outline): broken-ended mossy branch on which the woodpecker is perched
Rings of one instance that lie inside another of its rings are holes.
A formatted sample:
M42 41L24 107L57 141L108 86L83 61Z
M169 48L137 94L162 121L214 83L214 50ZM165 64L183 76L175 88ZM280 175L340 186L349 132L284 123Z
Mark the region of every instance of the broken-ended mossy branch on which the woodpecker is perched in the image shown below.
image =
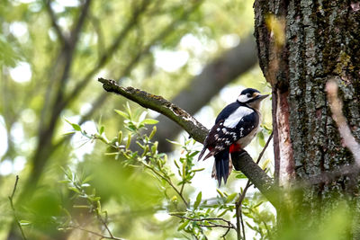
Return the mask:
M146 93L130 86L122 87L110 79L99 78L98 81L103 84L103 89L107 92L120 94L132 102L137 102L144 108L157 111L167 118L174 120L175 123L189 133L190 137L200 143L203 142L209 132L192 115L161 96ZM251 156L246 151L243 151L240 154L233 154L231 158L235 168L244 173L254 183L254 186L266 196L267 200L275 207L278 206L273 179L253 161Z

